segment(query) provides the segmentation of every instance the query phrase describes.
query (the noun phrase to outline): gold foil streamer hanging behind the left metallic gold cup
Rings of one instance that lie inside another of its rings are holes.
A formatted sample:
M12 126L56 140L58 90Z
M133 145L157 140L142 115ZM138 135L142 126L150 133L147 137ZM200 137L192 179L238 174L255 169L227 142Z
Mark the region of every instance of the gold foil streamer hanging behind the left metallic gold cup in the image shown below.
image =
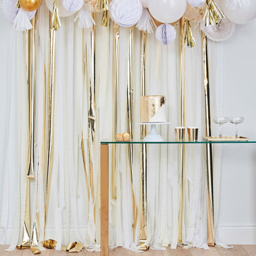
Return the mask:
M180 126L185 127L185 18L180 19ZM185 144L180 145L181 159L181 196L180 210L178 214L178 242L182 242L183 222L183 197L184 197L184 175L185 175Z

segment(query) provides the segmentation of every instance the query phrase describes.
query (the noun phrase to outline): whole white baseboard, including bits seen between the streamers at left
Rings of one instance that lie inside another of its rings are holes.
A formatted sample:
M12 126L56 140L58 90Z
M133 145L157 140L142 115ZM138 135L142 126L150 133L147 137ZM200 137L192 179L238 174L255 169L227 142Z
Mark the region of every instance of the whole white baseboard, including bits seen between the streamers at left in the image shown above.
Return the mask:
M0 230L0 244L10 244L13 228ZM47 228L47 234L54 236L54 228ZM85 235L86 227L80 228ZM75 229L70 228L70 235L75 235ZM217 241L223 244L256 244L256 225L218 225ZM4 239L3 239L4 238Z

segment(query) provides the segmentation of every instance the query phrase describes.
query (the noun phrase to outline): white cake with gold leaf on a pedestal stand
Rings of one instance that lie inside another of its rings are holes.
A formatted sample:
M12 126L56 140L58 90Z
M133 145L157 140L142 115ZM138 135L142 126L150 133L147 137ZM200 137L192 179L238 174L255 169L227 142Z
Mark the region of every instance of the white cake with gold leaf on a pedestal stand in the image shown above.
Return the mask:
M141 122L167 122L166 97L149 95L140 97Z

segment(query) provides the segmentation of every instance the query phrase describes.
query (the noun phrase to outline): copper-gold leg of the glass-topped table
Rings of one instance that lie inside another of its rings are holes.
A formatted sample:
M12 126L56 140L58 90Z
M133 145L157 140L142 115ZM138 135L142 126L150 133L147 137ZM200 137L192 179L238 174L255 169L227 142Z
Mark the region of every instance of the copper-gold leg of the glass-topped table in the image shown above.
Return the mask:
M100 145L100 255L108 256L108 144Z

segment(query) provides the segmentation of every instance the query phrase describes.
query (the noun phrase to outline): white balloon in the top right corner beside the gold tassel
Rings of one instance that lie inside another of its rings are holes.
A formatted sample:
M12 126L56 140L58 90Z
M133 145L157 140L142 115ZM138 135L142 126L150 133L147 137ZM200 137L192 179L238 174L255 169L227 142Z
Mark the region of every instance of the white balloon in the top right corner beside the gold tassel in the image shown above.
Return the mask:
M236 10L228 10L226 4L223 4L223 12L226 18L236 24L246 24L256 18L256 1L250 1L250 7L247 9L237 8Z

